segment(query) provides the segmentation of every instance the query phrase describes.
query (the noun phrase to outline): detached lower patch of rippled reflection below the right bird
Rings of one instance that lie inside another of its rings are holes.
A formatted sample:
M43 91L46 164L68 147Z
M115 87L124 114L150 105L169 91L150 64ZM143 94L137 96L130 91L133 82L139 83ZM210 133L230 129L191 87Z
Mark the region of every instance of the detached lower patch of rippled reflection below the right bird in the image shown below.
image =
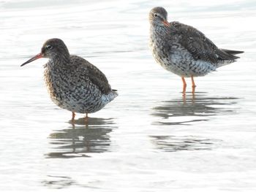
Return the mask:
M165 152L180 150L211 150L220 142L196 136L151 136L157 149Z

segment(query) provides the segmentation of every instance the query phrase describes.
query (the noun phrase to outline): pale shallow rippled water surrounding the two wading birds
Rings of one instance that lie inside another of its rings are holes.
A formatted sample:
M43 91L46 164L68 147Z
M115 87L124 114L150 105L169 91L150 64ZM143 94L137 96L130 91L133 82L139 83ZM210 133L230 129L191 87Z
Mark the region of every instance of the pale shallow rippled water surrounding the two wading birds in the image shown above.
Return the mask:
M156 64L148 11L244 50L190 82ZM255 191L255 1L0 1L0 191ZM46 39L104 72L119 96L89 125L49 99Z

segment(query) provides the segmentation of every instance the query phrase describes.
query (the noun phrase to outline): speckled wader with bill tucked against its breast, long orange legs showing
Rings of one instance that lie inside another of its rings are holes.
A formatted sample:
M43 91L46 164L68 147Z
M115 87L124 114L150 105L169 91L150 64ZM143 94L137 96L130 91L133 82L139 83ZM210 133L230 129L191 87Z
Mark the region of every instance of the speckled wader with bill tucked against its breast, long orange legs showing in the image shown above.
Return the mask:
M201 31L178 21L168 22L167 11L154 7L149 12L149 47L157 63L169 72L181 77L183 93L186 92L185 77L192 80L192 93L195 93L194 77L205 76L236 61L239 50L218 48Z

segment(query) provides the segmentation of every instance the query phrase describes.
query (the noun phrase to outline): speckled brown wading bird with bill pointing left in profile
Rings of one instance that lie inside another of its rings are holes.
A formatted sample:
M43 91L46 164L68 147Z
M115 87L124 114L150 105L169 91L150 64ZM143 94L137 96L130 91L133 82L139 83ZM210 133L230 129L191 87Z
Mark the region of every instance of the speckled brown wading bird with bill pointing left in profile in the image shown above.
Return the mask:
M107 77L96 66L78 55L69 55L67 46L61 39L48 39L41 52L21 66L38 58L48 58L45 64L45 84L54 104L75 113L97 112L118 96Z

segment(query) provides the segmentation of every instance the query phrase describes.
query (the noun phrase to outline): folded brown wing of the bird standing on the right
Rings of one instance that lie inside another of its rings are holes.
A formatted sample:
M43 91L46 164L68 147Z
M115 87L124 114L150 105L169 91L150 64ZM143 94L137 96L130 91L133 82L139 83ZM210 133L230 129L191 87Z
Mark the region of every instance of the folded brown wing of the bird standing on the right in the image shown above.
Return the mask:
M171 22L170 25L175 28L175 33L178 35L181 45L191 53L195 60L217 64L220 61L235 60L238 58L219 49L201 31L198 31L192 26L178 22Z

